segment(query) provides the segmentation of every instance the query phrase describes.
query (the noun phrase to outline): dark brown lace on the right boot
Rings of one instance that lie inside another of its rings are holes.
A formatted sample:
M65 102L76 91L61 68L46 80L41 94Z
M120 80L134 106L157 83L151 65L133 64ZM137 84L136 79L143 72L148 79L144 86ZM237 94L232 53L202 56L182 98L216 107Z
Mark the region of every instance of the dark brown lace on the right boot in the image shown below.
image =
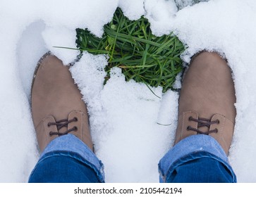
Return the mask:
M198 117L198 119L196 119L196 118L193 118L193 117L190 116L188 118L188 120L197 122L197 128L208 127L208 129L209 129L209 127L211 125L219 124L219 120L211 121L210 119L202 118L202 117ZM193 127L190 127L190 126L187 127L187 130L197 132L197 134L205 134L205 135L209 135L211 133L217 133L218 132L218 129L213 129L213 130L209 130L207 132L202 132L200 129L196 129L196 128L193 128Z

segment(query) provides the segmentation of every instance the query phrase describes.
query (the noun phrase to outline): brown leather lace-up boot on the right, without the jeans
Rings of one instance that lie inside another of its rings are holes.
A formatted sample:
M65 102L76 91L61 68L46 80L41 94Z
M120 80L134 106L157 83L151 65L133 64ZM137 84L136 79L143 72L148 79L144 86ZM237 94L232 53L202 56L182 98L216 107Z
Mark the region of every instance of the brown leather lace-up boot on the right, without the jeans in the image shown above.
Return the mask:
M217 53L199 53L185 72L175 144L190 135L207 134L228 154L236 117L235 102L231 69L226 61Z

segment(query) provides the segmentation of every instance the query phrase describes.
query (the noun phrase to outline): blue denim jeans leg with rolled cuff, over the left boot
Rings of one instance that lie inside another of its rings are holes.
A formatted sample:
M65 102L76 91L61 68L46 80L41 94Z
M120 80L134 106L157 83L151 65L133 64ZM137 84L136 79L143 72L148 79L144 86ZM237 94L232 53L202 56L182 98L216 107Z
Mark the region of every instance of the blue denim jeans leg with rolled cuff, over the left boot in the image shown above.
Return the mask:
M44 149L28 182L104 182L103 164L83 141L67 134Z

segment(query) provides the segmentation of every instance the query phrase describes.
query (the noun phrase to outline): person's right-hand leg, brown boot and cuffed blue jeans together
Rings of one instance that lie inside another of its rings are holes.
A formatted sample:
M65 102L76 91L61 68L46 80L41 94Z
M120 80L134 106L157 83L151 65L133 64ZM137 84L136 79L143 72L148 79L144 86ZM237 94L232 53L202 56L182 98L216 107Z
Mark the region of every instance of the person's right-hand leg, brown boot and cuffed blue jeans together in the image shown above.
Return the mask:
M185 72L173 148L159 162L160 182L236 182L228 163L236 117L231 70L202 52Z

